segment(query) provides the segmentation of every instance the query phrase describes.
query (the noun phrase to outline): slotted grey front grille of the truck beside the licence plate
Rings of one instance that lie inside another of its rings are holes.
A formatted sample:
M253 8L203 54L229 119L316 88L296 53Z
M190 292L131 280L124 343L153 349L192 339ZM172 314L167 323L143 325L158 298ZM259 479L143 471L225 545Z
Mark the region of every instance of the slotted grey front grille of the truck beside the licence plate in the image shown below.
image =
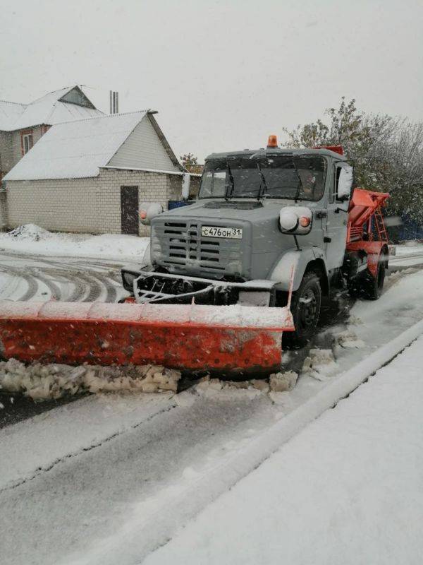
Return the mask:
M241 241L202 237L199 222L157 222L152 252L158 263L170 268L235 274L242 265Z

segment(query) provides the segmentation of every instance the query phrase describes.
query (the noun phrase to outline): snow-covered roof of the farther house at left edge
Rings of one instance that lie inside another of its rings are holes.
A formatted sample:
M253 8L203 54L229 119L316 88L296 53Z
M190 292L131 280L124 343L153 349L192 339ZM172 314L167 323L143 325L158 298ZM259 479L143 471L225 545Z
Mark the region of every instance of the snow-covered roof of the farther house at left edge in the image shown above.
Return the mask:
M41 124L103 116L78 86L54 90L30 104L0 102L0 130L14 131Z

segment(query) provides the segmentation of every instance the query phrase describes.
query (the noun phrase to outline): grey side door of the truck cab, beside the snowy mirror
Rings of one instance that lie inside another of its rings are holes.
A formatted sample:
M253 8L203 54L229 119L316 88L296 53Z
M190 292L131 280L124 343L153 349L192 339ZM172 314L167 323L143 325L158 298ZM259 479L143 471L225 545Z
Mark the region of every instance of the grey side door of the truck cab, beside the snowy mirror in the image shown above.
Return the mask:
M351 167L351 165L345 162L336 162L333 165L333 178L326 216L326 233L324 234L328 270L341 267L347 242L348 206L350 201L338 198L339 175L343 167Z

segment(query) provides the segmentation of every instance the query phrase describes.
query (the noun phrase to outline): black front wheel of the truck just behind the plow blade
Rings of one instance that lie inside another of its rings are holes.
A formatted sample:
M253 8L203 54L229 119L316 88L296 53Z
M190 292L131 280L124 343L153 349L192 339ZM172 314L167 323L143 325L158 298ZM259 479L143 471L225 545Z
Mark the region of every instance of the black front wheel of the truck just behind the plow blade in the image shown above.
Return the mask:
M295 331L284 334L290 347L304 347L316 333L320 315L321 287L316 273L306 273L297 292L293 293L291 312Z

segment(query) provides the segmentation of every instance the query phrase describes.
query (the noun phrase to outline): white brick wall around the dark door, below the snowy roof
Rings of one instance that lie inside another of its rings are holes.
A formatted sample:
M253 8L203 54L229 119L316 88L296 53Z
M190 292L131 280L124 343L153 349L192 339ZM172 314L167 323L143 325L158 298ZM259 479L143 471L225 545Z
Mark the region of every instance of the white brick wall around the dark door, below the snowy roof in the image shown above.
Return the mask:
M139 202L181 197L179 175L102 169L90 179L9 181L8 227L33 223L60 232L121 233L121 186L138 186ZM149 227L140 224L140 235Z

